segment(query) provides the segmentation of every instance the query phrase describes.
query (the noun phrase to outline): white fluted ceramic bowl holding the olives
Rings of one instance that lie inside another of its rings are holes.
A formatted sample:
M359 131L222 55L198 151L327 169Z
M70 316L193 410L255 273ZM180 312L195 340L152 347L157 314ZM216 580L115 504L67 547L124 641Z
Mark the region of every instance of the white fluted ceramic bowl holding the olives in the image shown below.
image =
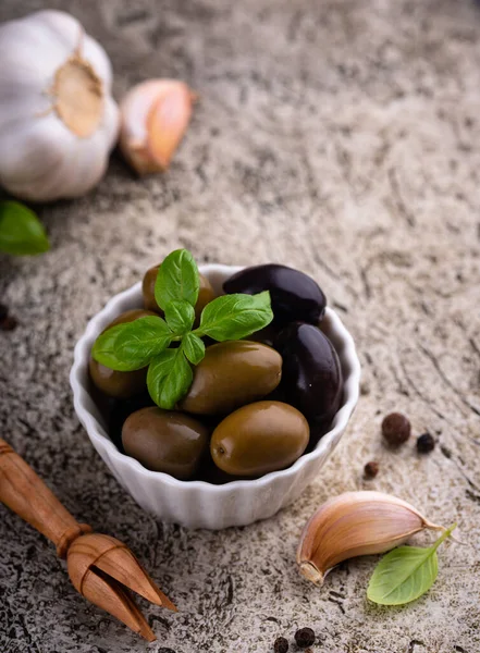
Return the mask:
M218 294L221 294L223 281L241 269L216 264L199 268ZM143 508L162 521L188 528L246 526L271 517L292 503L311 483L339 444L358 401L360 364L354 341L335 311L327 308L322 321L322 330L339 354L344 379L343 404L333 419L331 431L323 435L311 453L301 456L287 469L255 480L213 485L205 481L179 481L167 473L150 471L120 453L109 439L103 418L89 395L88 357L96 337L120 313L139 307L140 283L112 297L103 310L88 322L77 342L70 374L78 419L119 483Z

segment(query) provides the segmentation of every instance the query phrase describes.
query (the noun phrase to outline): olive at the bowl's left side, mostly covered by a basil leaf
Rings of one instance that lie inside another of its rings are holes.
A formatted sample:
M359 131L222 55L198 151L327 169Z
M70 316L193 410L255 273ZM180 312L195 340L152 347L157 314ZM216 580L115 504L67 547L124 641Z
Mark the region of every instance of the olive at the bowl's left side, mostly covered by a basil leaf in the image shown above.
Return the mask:
M157 313L151 310L134 308L120 315L103 330L103 332L111 326L116 326L116 324L125 324L126 322L133 322L138 318L156 315ZM134 372L116 372L115 370L111 370L104 365L97 362L90 356L88 371L94 385L109 397L128 399L143 392L147 386L147 368Z

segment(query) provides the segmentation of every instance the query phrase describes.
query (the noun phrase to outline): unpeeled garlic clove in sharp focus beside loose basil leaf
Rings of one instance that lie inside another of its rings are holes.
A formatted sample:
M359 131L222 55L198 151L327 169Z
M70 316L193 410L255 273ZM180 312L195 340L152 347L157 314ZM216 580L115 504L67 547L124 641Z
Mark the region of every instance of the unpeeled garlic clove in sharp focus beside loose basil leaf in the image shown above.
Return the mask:
M383 492L345 492L307 522L297 551L300 574L322 583L339 563L384 553L423 529L443 530L407 502Z

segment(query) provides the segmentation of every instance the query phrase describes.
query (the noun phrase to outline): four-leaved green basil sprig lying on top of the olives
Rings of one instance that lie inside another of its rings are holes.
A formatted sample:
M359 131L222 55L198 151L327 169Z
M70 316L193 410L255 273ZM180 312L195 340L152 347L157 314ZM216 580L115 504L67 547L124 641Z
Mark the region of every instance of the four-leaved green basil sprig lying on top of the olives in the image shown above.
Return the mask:
M172 251L160 266L155 284L155 298L164 319L149 316L108 329L94 344L94 359L120 372L148 366L151 398L161 408L173 408L192 385L192 366L205 356L202 337L241 340L273 320L268 291L223 295L207 304L199 326L194 329L199 286L192 254L186 249Z

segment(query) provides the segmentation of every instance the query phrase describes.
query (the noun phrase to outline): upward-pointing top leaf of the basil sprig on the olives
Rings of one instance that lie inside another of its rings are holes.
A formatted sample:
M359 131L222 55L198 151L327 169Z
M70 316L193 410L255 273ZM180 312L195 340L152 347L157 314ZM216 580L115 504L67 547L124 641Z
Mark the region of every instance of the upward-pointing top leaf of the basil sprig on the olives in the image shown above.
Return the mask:
M175 299L184 299L195 306L199 286L194 257L187 249L176 249L160 266L155 283L155 298L162 310L165 310L169 301Z

